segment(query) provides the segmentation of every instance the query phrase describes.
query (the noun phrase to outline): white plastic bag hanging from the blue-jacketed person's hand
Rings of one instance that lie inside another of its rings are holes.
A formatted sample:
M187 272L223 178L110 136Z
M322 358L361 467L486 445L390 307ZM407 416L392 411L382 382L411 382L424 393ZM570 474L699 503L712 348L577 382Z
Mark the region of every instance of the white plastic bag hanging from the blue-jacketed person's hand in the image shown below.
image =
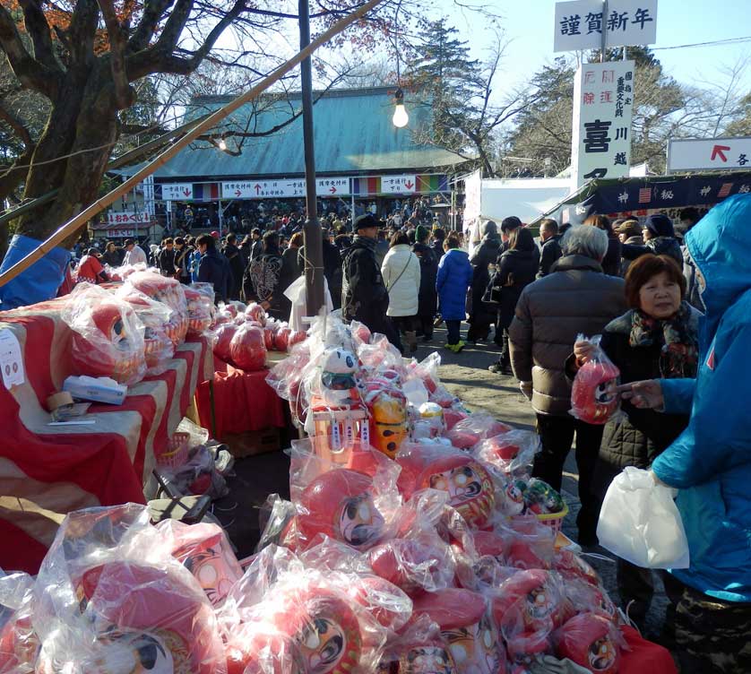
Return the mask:
M688 541L674 490L650 471L627 466L610 483L600 510L600 545L644 568L687 568Z

